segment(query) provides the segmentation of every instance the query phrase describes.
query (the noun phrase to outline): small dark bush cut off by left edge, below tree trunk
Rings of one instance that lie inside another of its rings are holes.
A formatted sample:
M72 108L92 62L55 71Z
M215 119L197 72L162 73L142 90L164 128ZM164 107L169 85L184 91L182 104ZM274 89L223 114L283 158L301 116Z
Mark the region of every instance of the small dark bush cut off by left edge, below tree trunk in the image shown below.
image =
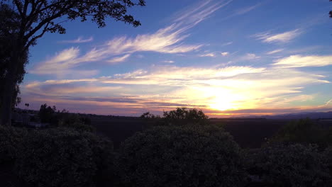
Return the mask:
M0 164L9 164L16 160L18 147L27 134L25 129L0 125Z

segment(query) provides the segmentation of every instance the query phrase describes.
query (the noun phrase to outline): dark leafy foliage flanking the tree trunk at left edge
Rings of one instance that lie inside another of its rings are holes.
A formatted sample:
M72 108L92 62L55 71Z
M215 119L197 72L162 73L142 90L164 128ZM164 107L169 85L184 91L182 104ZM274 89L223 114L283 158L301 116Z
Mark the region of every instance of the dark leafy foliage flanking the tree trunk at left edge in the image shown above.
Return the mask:
M0 4L0 108L2 106L2 96L4 94L4 83L6 74L9 71L10 64L10 54L14 50L13 45L11 45L11 40L13 35L17 34L18 28L18 13L15 13L6 4ZM28 51L24 54L23 64L28 63ZM13 94L11 98L11 108L16 106L21 102L21 98L18 97L20 94L20 89L18 84L23 81L23 76L25 74L24 65L18 69L16 74L16 84L13 88Z

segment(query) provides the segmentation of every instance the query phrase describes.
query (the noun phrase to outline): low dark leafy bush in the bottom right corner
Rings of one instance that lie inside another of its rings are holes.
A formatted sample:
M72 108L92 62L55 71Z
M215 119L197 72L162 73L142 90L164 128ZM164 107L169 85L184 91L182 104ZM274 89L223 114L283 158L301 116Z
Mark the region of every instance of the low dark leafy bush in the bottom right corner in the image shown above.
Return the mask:
M268 186L328 186L326 158L316 145L274 145L250 152L249 174Z

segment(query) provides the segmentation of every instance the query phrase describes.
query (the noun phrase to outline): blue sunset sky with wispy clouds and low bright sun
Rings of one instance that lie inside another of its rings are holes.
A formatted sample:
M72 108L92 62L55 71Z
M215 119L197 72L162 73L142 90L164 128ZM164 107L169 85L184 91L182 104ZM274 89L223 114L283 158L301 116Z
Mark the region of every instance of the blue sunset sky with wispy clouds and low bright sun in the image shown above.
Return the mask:
M147 0L141 26L63 23L30 49L21 108L209 117L332 111L328 0Z

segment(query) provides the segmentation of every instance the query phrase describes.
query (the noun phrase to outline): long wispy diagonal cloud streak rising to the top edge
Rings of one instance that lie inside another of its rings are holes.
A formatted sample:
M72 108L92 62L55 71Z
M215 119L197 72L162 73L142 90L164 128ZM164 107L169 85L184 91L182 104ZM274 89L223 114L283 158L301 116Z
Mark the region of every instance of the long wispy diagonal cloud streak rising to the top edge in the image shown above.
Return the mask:
M204 1L175 18L170 26L160 28L155 33L137 35L134 38L118 36L107 41L104 45L94 47L82 54L78 47L70 47L57 53L52 58L40 62L29 72L33 74L55 74L63 77L73 74L80 65L89 62L123 62L134 52L159 52L167 54L181 54L199 49L203 44L187 45L184 40L189 37L187 30L196 26L201 21L209 18L219 8L226 6L231 1ZM83 42L82 38L71 42ZM96 74L96 70L84 72Z

